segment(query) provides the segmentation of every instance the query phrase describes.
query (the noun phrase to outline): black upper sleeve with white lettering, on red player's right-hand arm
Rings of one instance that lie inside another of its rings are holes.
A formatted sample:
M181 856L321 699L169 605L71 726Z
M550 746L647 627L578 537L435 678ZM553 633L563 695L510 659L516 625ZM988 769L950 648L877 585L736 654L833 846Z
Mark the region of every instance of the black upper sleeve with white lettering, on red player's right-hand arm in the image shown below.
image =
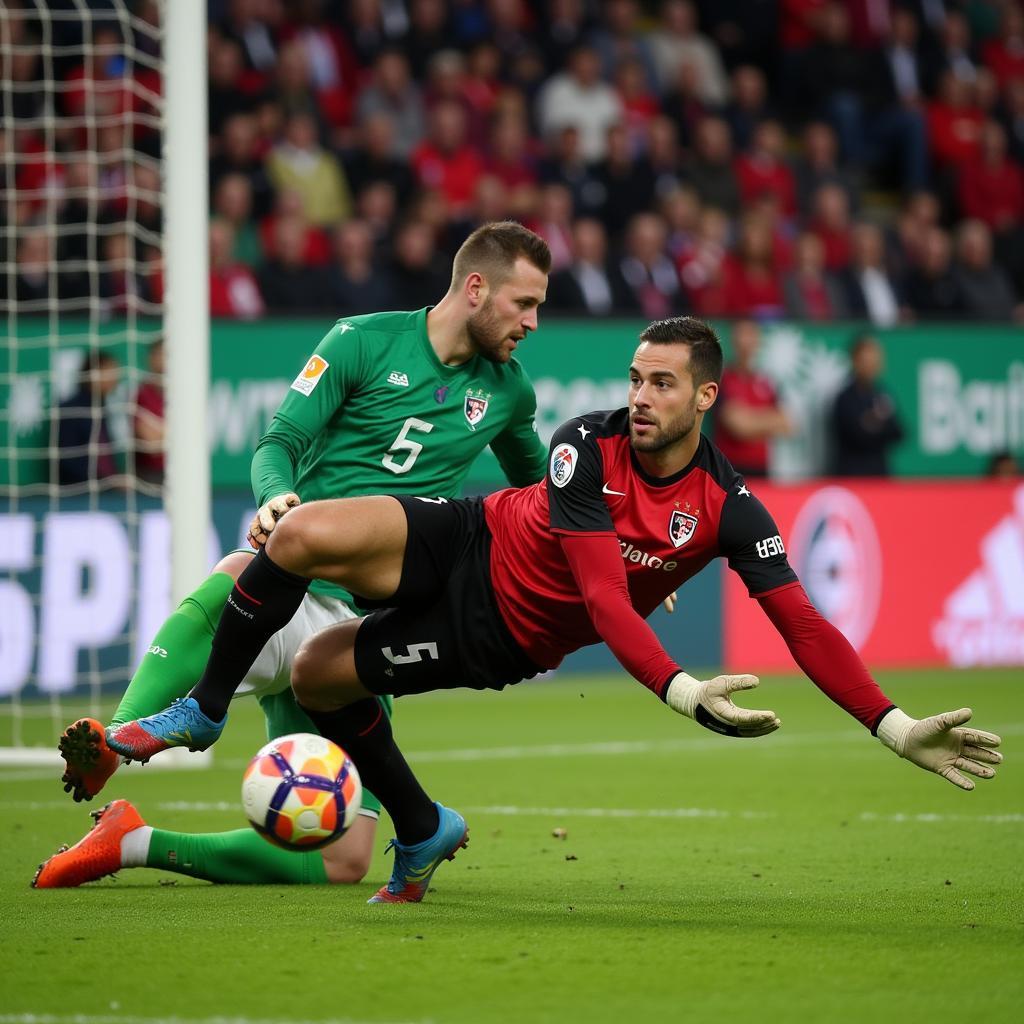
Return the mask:
M775 520L739 478L722 506L718 545L752 597L797 583Z

